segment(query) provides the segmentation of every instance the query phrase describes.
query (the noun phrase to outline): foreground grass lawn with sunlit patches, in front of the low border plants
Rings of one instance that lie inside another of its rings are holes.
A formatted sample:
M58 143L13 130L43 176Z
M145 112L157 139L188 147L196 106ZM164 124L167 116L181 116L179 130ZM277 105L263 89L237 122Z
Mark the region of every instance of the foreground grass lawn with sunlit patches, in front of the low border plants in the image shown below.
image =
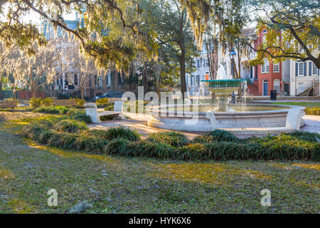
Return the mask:
M16 135L30 119L0 122L0 214L319 213L320 163L182 162L90 155L37 145ZM58 207L47 192L58 191ZM271 207L260 204L271 191Z

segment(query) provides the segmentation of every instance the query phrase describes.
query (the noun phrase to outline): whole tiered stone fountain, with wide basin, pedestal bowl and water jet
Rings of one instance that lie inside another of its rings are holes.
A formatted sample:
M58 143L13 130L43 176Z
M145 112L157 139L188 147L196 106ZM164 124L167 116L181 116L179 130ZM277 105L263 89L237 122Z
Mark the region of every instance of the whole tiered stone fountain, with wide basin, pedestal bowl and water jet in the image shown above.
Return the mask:
M222 64L216 80L202 81L218 96L217 104L166 104L149 108L147 125L169 130L208 132L217 128L236 135L291 133L304 125L304 107L294 105L242 104L228 106L228 96L245 80L227 76ZM192 106L192 109L190 107Z

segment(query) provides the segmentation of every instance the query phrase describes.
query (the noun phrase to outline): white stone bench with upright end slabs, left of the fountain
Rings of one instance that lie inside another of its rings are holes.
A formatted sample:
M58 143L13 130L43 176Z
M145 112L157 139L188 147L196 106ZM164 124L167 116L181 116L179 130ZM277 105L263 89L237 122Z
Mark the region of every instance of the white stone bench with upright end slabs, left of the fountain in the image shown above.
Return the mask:
M85 104L85 114L90 116L92 123L101 123L100 116L104 116L104 115L115 115L123 118L122 112L123 112L122 101L116 101L114 103L113 111L107 111L102 113L97 112L97 105L95 103Z

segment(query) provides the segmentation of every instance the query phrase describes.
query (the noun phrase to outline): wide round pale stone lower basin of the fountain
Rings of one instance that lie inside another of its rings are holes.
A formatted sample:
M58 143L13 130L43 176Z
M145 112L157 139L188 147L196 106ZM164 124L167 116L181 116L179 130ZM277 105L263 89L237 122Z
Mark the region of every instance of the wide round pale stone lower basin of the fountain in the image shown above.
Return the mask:
M162 105L149 109L152 117L147 125L168 130L196 132L209 132L219 128L240 135L289 133L299 130L304 125L302 121L304 107L300 106L248 104L249 109L258 110L242 112L215 112L214 108L199 112L197 108L191 111L174 110L182 106ZM259 110L261 107L271 110ZM198 105L198 110L201 110L201 105Z

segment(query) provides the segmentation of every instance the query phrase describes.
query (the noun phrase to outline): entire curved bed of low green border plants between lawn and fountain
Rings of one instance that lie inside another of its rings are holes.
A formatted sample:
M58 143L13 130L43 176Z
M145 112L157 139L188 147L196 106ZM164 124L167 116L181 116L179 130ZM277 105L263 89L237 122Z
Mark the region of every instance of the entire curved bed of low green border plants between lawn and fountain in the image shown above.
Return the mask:
M88 130L84 123L76 120L51 118L48 121L42 119L26 125L22 134L26 138L53 147L128 157L174 160L320 161L320 137L316 133L297 132L264 138L239 139L230 133L215 131L206 134L206 137L210 137L210 142L198 140L198 142L183 141L174 144L168 140L169 135L178 135L178 138L183 140L186 138L183 138L181 133L166 132L141 140L139 135L129 128ZM221 134L228 137L216 137Z

